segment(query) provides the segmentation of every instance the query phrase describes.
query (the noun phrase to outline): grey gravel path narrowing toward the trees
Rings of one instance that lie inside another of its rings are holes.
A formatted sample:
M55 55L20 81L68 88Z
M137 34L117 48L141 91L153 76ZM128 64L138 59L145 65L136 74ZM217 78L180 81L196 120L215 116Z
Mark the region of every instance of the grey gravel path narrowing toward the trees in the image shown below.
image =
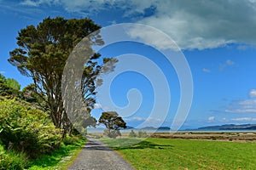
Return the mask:
M90 137L87 139L88 142L84 149L80 152L77 159L73 161L73 164L67 168L68 170L134 169L115 151L102 144L99 139L91 139Z

